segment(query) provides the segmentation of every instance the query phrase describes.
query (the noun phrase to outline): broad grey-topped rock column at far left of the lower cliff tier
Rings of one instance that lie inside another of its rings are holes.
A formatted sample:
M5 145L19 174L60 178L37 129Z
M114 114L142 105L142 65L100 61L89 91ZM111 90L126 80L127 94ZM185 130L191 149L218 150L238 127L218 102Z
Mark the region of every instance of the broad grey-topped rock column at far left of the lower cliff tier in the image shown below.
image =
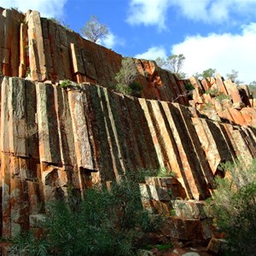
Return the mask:
M18 78L5 77L2 83L1 212L5 238L16 236L29 226L29 214L36 211L40 201L37 144L29 144L36 127L33 101L27 100L29 95L35 95L28 92L29 87L29 82Z

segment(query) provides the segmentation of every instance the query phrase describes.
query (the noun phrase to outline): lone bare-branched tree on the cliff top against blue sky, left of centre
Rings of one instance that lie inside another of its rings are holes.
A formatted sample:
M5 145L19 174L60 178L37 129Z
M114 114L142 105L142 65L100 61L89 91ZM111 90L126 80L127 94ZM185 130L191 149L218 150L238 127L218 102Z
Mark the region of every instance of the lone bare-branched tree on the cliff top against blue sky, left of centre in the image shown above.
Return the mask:
M100 38L108 38L109 34L107 26L101 24L94 15L90 16L90 20L85 23L80 31L85 38L94 43Z

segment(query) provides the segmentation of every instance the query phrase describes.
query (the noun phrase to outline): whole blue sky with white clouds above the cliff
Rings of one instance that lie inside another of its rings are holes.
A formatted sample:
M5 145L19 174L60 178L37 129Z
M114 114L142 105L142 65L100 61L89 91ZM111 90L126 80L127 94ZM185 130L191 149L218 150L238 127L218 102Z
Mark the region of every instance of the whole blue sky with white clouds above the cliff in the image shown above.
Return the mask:
M108 26L101 42L121 55L186 57L183 72L231 69L246 84L256 80L256 0L0 0L4 8L36 9L75 32L90 15Z

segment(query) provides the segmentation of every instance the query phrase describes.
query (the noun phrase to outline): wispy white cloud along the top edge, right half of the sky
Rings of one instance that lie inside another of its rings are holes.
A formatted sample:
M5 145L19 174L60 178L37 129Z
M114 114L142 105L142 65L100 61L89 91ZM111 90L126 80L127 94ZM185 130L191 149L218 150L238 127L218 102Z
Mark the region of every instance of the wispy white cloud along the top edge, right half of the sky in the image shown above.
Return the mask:
M206 23L232 21L233 15L254 17L256 0L130 0L127 22L131 25L166 27L168 9L176 10L188 20Z

